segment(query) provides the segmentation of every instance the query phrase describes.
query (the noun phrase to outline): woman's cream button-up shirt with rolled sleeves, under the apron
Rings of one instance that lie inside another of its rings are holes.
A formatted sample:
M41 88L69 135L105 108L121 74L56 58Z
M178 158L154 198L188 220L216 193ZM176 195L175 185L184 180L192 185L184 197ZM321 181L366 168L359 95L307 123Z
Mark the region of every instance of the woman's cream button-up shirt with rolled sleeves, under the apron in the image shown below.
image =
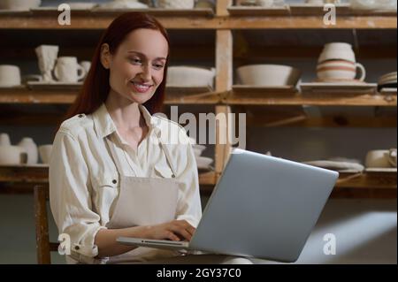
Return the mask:
M167 146L180 182L176 219L196 226L202 216L198 172L189 137L167 118L140 111L149 133L135 152L119 135L103 104L90 115L65 120L50 156L50 208L59 233L71 238L73 256L93 262L98 255L96 232L110 221L119 195L119 173L126 176L170 178L172 170L158 140ZM123 171L118 171L105 144L109 138Z

